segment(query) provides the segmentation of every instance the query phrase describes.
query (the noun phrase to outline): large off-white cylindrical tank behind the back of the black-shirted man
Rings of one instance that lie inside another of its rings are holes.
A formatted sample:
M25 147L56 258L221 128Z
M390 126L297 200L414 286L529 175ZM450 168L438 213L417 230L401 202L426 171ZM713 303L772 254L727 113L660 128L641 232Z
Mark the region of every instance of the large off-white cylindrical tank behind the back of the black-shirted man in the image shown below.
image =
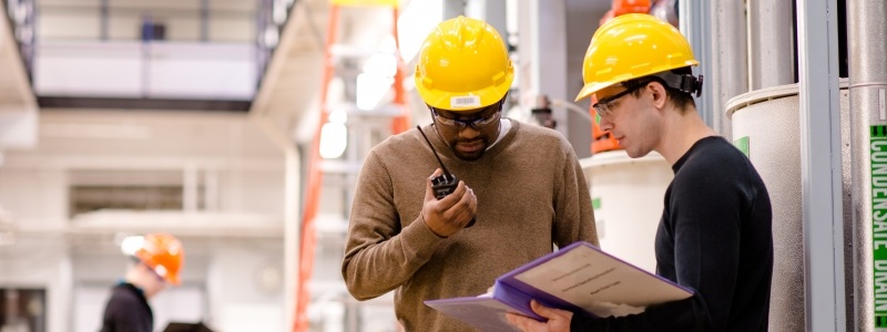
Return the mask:
M849 139L847 82L840 84L842 142ZM738 95L727 102L733 142L748 155L773 206L773 282L769 331L805 331L804 238L801 195L801 100L788 84ZM849 146L842 145L844 206L849 205ZM850 210L844 209L845 238Z

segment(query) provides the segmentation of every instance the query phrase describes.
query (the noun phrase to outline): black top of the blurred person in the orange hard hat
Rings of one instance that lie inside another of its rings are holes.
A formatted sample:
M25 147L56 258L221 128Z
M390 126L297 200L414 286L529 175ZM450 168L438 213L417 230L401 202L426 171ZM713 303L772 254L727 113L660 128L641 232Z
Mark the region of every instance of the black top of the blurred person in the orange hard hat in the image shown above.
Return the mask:
M154 313L142 290L120 283L111 290L101 332L153 332Z

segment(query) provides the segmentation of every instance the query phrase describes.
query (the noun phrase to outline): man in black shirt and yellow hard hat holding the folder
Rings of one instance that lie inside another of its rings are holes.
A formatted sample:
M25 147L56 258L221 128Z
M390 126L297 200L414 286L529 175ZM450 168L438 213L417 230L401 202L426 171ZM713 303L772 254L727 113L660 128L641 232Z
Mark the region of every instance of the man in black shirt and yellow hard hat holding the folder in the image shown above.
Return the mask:
M533 303L546 323L509 314L524 331L766 331L773 274L767 189L748 158L696 113L699 62L674 27L648 14L602 25L585 54L585 85L601 129L631 157L672 165L655 238L656 273L695 291L620 318L587 318Z

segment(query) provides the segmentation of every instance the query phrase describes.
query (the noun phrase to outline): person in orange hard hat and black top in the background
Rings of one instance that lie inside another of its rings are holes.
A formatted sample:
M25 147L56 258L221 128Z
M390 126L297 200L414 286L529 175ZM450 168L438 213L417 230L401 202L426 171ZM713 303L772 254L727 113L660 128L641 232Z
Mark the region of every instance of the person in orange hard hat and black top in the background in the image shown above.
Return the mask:
M181 283L185 251L174 236L144 236L132 259L123 280L111 290L101 332L153 332L154 313L147 300L167 286Z

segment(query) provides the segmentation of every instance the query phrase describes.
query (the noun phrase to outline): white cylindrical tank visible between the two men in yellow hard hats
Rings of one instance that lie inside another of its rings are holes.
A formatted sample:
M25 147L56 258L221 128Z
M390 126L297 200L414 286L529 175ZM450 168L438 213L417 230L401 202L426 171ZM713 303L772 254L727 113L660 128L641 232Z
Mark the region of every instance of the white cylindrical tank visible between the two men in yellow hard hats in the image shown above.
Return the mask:
M631 158L623 149L597 153L580 160L591 188L601 249L656 271L654 239L662 199L674 177L657 153Z

